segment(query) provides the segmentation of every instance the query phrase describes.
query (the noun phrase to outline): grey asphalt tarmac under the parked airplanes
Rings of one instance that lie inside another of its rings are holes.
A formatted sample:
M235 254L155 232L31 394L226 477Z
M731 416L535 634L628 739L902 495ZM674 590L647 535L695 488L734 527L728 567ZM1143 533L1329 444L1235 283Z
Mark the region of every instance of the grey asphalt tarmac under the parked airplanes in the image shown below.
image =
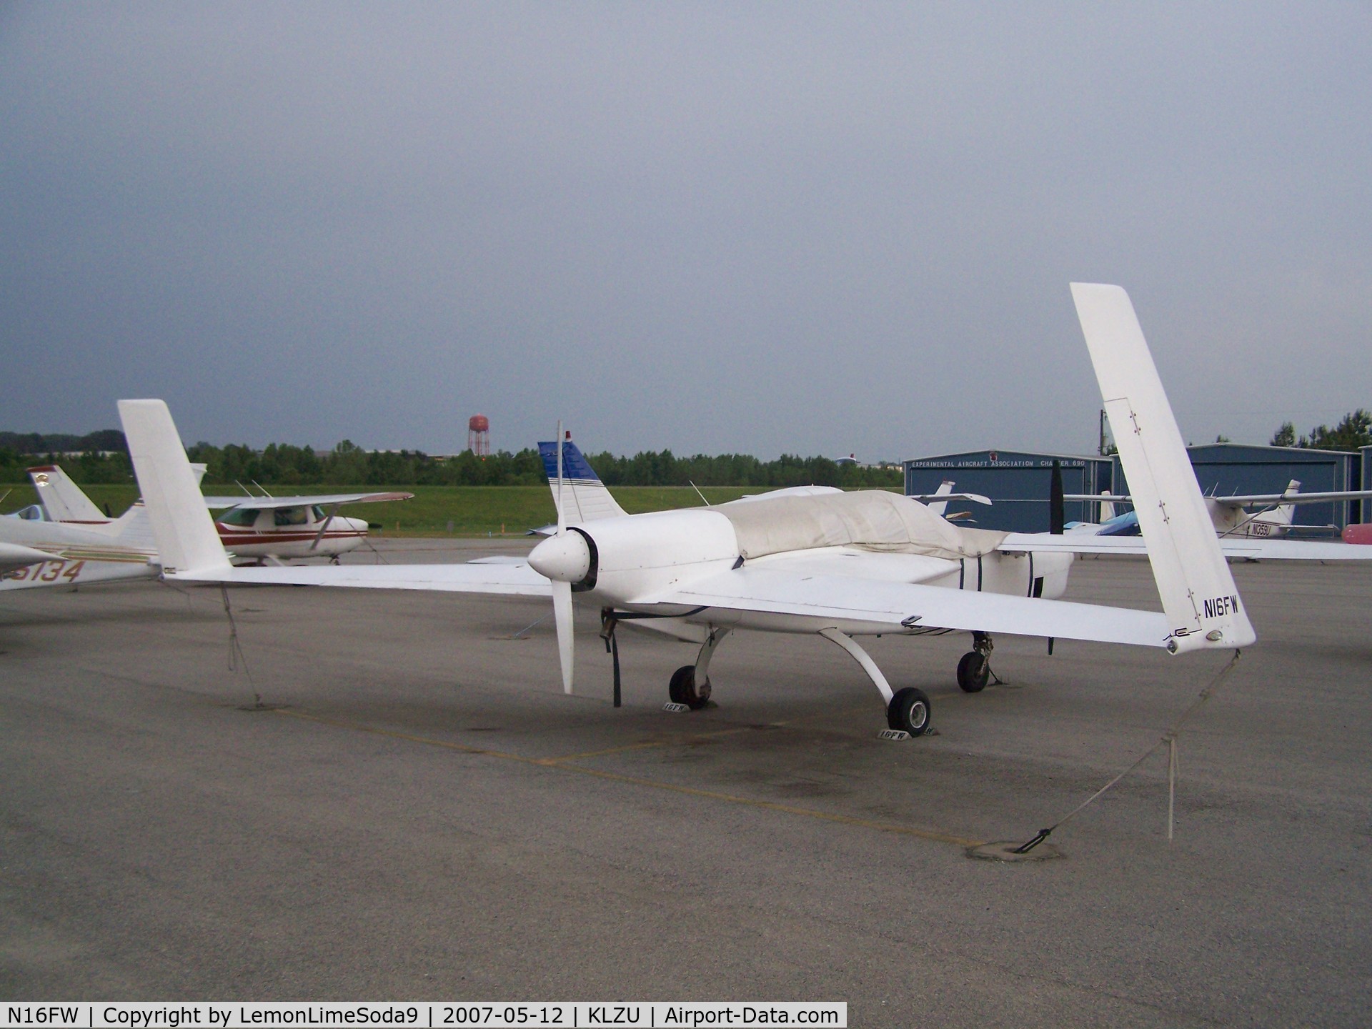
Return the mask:
M818 637L731 635L718 707L667 713L694 648L622 630L615 709L593 608L565 697L542 601L236 589L235 671L218 589L4 594L0 996L1368 1025L1372 567L1235 575L1259 639L1179 735L1173 841L1158 753L1017 864L967 848L1076 808L1227 657L1006 637L965 694L966 634L886 637L937 730L886 742ZM1155 606L1137 561L1072 583Z

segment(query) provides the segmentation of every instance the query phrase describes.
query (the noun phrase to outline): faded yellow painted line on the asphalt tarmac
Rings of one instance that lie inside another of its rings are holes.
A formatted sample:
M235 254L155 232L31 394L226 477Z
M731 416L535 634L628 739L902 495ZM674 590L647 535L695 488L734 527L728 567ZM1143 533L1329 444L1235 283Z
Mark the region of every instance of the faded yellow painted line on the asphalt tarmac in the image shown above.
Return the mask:
M856 826L859 829L873 829L879 833L895 833L897 836L911 836L918 840L930 840L940 844L951 844L954 847L981 847L985 840L969 840L966 837L954 836L952 833L944 833L937 829L922 829L918 826L901 826L895 822L878 822L868 818L858 818L855 815L840 815L829 811L816 811L815 808L801 808L793 804L778 804L772 800L755 800L752 797L740 797L734 793L720 793L719 790L698 789L696 786L678 786L671 782L657 782L656 779L643 779L638 775L624 775L622 772L601 771L600 768L587 768L579 764L571 764L572 760L578 757L595 757L609 753L623 753L626 750L648 749L650 746L663 746L665 744L678 742L674 740L654 740L643 744L630 744L622 748L612 748L608 750L587 752L586 755L571 755L568 757L528 757L525 755L512 753L509 750L491 750L483 746L468 746L466 744L457 744L447 740L434 740L432 737L416 735L413 733L399 733L394 729L377 729L375 726L364 726L357 722L344 722L343 719L322 718L320 715L311 715L306 711L291 711L288 708L274 708L273 713L285 715L287 718L300 719L302 722L314 722L321 726L331 726L333 729L347 729L354 733L370 733L372 735L383 735L391 740L405 740L412 744L424 744L425 746L440 746L447 750L457 750L460 753L475 755L479 757L499 757L506 761L519 761L520 764L531 764L542 768L557 768L558 771L576 772L578 775L590 775L597 779L605 779L608 782L620 782L627 786L643 786L646 789L663 790L665 793L678 793L687 797L700 797L702 800L718 800L726 804L738 804L741 807L760 808L763 811L777 811L783 815L797 815L800 818L814 818L820 822L836 822L844 826ZM722 730L712 735L724 735L729 733L744 733L748 731L746 727Z

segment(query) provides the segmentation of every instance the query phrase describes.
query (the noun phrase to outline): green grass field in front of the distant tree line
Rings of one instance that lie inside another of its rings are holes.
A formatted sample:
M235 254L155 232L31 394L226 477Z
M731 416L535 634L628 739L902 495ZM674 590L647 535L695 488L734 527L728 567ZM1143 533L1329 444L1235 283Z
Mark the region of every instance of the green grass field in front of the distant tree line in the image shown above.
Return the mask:
M0 499L0 513L8 514L29 504L37 504L32 486L0 487L10 493ZM86 494L97 506L108 505L115 516L128 510L137 499L134 486L88 486ZM209 487L217 495L228 494L225 487ZM268 487L272 488L272 487ZM381 525L381 536L519 536L531 528L556 520L553 495L546 486L311 486L299 493L359 493L405 490L414 499L397 504L357 504L343 509L354 517ZM738 499L744 494L760 493L755 486L707 486L701 490L711 504ZM296 493L295 487L272 488L279 497ZM700 495L689 486L622 486L611 490L620 506L631 514L670 508L698 508Z

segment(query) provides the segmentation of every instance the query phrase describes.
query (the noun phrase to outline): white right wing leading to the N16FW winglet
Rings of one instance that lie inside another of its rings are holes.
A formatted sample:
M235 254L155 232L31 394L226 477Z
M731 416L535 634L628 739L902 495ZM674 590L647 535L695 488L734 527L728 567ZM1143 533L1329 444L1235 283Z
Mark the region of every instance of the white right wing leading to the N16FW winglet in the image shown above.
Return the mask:
M774 568L720 572L679 590L635 598L630 606L637 604L803 616L816 626L829 622L853 632L952 628L1143 646L1165 646L1169 637L1168 617L1161 612Z

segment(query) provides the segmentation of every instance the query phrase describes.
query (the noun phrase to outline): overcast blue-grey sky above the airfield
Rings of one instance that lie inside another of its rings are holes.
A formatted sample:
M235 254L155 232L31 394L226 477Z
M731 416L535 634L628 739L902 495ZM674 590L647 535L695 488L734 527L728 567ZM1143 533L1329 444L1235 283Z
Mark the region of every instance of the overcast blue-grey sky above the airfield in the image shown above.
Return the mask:
M1372 406L1367 4L4 4L0 428L1091 451Z

